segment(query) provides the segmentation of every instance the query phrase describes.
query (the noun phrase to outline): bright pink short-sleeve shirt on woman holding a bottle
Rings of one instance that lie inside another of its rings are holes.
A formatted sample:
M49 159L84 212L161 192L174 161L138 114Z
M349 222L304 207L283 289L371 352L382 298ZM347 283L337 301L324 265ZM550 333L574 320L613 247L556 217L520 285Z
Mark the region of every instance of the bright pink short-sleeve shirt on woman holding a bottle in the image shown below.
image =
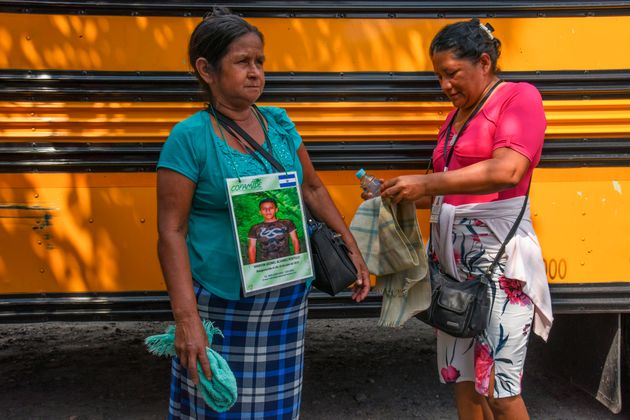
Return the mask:
M444 141L453 110L440 128L438 143L433 151L433 168L444 170ZM503 83L483 108L468 123L455 144L448 170L472 165L492 157L499 147L509 147L530 161L521 182L514 187L492 194L452 194L444 202L452 205L485 203L525 195L532 172L540 161L547 120L538 90L529 83ZM449 140L455 133L452 131ZM450 151L450 150L449 150Z

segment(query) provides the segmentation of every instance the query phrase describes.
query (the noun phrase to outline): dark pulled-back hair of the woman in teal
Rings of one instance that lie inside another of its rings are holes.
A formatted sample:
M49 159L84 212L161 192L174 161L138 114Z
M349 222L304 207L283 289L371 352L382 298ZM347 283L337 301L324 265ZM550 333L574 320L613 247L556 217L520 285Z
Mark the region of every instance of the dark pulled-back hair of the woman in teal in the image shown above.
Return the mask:
M194 29L188 43L188 60L199 83L210 96L212 92L199 77L195 62L203 57L208 61L210 71L220 71L221 60L232 42L249 33L256 34L264 43L265 39L258 28L224 7L214 7Z

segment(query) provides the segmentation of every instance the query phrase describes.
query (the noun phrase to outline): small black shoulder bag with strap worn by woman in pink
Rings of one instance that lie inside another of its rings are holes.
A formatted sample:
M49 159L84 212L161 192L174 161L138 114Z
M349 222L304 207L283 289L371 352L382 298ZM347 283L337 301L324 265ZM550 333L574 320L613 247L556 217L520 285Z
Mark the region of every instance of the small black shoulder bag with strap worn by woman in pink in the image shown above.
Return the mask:
M447 138L444 140L445 167L448 167L448 164L453 157L455 144L462 132L500 82L501 81L499 80L494 86L492 86L488 93L484 95L480 103L475 107L473 112L468 116L466 122L464 122L458 133L455 135L455 138L451 140L451 150L447 155L446 147L448 143L448 135L451 132L451 128L457 114L451 119L446 131ZM499 252L497 252L494 261L483 274L474 279L460 282L440 270L440 266L437 262L429 261L431 304L426 311L417 315L419 319L454 337L475 337L486 329L490 317L491 302L490 297L488 296L488 287L492 281L492 272L503 256L505 246L514 236L514 233L523 218L528 198L529 187L527 188L527 194L525 195L523 207L514 222L514 226L512 226L512 229L510 229L510 232L503 241L503 244L501 244L501 248L499 249ZM429 242L430 241L431 239Z

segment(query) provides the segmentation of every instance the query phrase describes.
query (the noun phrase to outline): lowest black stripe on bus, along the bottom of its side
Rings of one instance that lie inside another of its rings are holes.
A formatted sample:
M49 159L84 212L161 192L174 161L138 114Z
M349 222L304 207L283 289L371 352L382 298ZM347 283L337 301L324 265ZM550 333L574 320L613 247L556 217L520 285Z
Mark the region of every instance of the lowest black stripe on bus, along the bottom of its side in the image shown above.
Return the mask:
M595 279L594 279L595 280ZM630 283L550 284L554 314L630 312ZM361 305L350 292L331 297L309 294L310 318L378 317L381 296L370 293ZM42 321L172 320L166 292L16 293L0 295L0 324Z

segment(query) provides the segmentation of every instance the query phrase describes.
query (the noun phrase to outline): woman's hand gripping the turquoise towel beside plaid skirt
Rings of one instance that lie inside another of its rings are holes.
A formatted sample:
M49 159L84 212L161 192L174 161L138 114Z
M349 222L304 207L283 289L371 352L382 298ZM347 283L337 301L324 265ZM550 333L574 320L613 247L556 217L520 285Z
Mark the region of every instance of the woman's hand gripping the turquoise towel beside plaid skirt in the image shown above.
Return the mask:
M188 376L195 384L199 384L197 362L208 380L212 379L212 370L206 348L208 337L199 316L191 316L185 320L176 321L175 325L175 353L180 364L188 370Z

